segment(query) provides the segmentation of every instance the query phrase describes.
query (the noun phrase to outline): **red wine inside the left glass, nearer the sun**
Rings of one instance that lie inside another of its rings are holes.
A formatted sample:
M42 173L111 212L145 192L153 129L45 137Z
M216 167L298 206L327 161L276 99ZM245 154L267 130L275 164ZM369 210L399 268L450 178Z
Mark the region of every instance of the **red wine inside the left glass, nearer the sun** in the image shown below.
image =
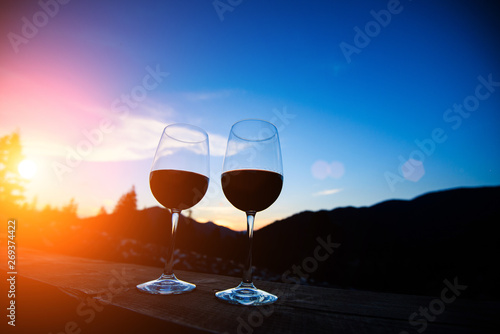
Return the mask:
M184 170L158 169L149 174L151 192L164 207L189 209L203 198L208 177Z

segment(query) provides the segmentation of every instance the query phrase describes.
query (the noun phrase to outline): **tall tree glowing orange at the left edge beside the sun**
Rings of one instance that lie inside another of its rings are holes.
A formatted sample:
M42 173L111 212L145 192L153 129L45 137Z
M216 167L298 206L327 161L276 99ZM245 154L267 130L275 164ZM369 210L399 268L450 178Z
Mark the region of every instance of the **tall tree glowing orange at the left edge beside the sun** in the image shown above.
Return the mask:
M23 179L17 171L23 158L19 133L0 138L0 206L19 205L24 199Z

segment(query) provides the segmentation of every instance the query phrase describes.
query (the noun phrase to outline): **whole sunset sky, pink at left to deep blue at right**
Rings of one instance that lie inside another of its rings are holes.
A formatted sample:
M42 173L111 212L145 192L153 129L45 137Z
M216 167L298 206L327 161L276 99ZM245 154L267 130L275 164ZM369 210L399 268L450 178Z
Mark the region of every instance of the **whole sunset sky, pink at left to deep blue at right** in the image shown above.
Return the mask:
M65 2L0 5L0 136L19 131L40 208L109 212L133 185L139 208L158 205L153 155L180 122L211 144L193 217L245 229L220 187L245 118L282 145L284 188L257 228L500 184L495 1Z

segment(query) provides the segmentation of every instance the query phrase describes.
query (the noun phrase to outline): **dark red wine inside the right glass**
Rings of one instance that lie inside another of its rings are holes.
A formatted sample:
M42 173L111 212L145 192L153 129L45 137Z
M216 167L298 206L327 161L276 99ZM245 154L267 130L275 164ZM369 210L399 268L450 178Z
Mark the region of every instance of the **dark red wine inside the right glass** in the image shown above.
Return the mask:
M222 174L222 190L226 198L242 211L262 211L278 198L283 176L257 169L238 169Z

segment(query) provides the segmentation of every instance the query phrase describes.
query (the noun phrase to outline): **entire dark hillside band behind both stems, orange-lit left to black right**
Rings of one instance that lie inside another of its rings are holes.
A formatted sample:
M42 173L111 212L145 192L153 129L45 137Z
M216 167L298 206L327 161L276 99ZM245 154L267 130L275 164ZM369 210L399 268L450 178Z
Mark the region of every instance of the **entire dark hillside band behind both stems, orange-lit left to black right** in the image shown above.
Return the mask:
M255 232L254 276L425 295L439 294L443 280L456 277L468 286L465 298L499 299L499 199L498 186L460 188L370 207L301 212ZM83 219L74 209L70 202L64 212L19 212L19 240L45 251L162 266L170 242L166 209L102 211ZM244 233L185 216L177 232L175 269L240 277ZM314 266L318 238L340 246Z

